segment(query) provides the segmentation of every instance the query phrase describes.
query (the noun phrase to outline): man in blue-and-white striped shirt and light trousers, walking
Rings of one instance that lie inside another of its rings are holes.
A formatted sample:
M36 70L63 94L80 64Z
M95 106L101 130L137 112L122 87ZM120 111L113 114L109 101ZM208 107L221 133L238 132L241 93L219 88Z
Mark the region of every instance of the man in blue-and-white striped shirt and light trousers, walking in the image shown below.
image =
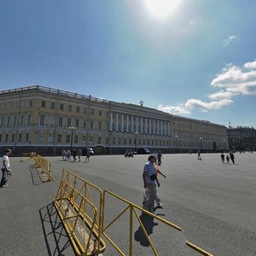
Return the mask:
M145 164L143 169L143 183L144 183L144 189L148 188L148 194L149 198L148 201L146 201L143 205L143 209L148 210L148 212L154 213L154 200L157 199L156 194L156 170L154 166L155 162L154 155L150 155L148 157L148 162Z

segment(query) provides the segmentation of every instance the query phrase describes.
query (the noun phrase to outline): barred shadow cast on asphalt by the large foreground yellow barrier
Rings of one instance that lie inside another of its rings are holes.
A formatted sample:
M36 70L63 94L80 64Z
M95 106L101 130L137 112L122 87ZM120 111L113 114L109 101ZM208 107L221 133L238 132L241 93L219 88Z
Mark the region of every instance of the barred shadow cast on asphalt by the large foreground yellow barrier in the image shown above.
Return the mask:
M54 203L39 210L48 255L75 255Z

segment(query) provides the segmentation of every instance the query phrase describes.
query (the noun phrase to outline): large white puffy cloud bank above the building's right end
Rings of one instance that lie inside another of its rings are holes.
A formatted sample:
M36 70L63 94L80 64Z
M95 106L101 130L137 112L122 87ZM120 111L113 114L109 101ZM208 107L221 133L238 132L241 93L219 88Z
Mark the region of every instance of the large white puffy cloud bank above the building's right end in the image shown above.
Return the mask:
M229 106L234 101L232 98L238 95L256 95L256 60L247 62L243 67L228 65L212 80L211 86L219 90L208 96L211 102L203 102L200 99L189 99L178 106L163 106L158 109L167 113L189 114L191 110L198 108L202 112L212 109L220 109Z

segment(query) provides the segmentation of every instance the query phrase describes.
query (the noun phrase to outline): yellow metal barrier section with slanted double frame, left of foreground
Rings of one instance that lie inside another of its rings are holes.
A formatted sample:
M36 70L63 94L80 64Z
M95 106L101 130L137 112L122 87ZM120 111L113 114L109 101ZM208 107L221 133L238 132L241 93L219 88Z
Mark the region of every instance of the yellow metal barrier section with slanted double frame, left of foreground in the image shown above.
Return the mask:
M95 198L96 202L93 201ZM55 207L78 255L96 255L105 251L106 244L101 237L102 189L63 169ZM95 241L91 241L92 236Z

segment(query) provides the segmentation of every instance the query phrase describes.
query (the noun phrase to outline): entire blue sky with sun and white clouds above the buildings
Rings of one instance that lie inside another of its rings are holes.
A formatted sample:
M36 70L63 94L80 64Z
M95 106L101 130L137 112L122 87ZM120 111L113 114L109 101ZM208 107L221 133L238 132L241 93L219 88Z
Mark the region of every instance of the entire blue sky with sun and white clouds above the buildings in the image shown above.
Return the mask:
M0 90L39 84L256 126L256 1L0 0Z

